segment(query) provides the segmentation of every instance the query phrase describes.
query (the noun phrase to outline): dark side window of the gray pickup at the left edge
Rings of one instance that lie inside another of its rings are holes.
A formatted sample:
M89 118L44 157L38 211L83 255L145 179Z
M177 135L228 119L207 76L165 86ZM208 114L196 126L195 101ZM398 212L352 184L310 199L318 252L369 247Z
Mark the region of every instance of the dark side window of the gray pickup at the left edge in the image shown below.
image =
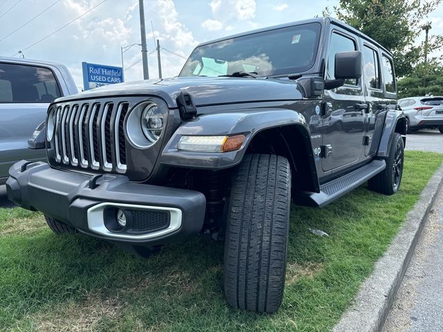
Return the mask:
M0 102L53 102L60 89L48 68L0 64Z

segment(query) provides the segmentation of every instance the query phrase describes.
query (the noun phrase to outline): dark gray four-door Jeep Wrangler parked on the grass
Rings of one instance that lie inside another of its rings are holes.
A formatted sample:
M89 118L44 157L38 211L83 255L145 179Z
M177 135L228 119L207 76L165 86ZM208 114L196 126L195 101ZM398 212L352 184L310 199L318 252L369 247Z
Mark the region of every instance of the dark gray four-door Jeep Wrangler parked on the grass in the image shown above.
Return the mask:
M399 190L406 121L392 56L329 18L195 48L179 77L50 105L48 163L10 169L8 197L147 255L192 234L225 239L235 308L281 302L291 199L323 207L365 181ZM38 146L38 142L35 144Z

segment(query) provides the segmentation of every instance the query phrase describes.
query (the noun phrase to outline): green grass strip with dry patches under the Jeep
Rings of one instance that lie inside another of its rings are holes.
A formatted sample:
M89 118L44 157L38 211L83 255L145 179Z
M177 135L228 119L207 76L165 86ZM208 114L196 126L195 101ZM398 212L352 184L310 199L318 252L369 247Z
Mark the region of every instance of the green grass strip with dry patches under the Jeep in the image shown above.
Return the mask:
M363 186L323 210L293 205L287 286L274 315L226 304L222 243L197 237L143 259L82 234L56 236L37 212L0 209L0 330L327 331L442 161L406 152L394 196Z

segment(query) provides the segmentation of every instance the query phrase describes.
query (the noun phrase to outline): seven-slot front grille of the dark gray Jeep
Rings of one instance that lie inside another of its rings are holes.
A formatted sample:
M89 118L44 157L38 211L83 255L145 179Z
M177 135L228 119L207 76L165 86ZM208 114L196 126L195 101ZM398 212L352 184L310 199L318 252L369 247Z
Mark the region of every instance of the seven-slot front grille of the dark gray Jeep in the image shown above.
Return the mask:
M126 172L123 123L129 102L71 102L55 107L56 163Z

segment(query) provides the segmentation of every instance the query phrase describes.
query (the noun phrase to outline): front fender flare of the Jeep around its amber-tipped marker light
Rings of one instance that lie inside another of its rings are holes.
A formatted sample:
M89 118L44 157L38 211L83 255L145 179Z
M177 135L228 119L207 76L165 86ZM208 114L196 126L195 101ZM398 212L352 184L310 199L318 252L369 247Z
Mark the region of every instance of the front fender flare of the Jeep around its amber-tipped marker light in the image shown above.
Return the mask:
M309 127L305 117L289 109L254 109L212 113L185 122L175 131L161 154L161 163L177 167L197 169L226 169L238 165L249 143L260 131L289 125L299 126L309 148L309 163L316 174L314 153L309 138ZM242 147L223 153L179 151L177 145L182 136L231 136L243 133L246 136ZM318 181L318 180L317 180Z

